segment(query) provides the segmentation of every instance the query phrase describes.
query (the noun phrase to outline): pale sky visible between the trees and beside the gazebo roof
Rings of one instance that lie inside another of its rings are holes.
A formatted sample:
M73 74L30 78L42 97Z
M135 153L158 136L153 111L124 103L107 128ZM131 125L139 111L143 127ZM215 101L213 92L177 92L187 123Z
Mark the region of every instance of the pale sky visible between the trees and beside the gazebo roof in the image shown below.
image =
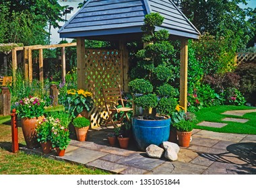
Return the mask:
M84 2L84 0L59 0L58 2L61 6L69 5L74 8L71 13L67 14L67 20L69 20L79 10L77 9L78 4ZM250 0L247 1L247 3L247 6L241 5L241 7L251 7L253 9L256 7L256 0ZM63 16L63 18L65 18L65 16ZM59 23L60 26L63 26L64 24L65 22ZM51 29L51 44L58 44L62 40L62 38L59 38L58 30L59 29ZM71 42L72 39L66 38L66 40Z

